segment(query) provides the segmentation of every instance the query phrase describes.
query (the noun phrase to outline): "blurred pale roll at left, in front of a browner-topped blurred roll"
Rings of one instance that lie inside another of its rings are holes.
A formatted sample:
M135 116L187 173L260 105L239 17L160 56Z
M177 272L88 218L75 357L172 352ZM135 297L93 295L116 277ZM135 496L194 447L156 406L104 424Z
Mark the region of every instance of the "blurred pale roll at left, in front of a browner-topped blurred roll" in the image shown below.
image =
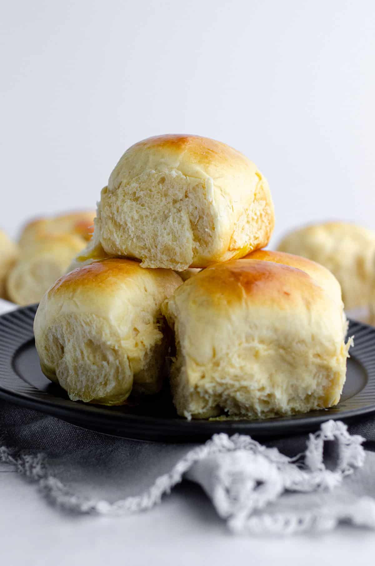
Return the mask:
M24 244L7 278L11 301L18 305L39 302L45 291L65 273L82 245L82 238L71 234L50 234L48 238L39 237Z

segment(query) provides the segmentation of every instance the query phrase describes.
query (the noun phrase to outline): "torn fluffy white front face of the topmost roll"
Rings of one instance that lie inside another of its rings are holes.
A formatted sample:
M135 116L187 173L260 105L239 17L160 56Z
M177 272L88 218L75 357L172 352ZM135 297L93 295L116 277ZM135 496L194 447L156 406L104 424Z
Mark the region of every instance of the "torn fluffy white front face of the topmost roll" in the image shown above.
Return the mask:
M204 182L173 170L147 171L116 192L104 188L97 222L105 251L144 267L193 266L218 247L219 218L206 195Z

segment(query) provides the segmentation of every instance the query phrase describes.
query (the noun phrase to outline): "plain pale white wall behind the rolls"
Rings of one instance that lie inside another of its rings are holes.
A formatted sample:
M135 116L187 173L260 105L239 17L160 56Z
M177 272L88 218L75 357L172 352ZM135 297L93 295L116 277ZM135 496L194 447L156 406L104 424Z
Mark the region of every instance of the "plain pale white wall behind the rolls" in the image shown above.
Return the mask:
M272 243L375 228L372 0L12 0L1 10L0 226L91 208L129 145L225 141L269 179Z

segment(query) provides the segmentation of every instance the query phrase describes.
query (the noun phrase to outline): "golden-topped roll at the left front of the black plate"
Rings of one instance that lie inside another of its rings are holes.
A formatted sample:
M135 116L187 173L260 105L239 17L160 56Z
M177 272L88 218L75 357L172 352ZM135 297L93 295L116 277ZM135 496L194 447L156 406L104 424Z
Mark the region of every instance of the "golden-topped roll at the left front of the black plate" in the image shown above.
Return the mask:
M169 341L160 304L182 283L169 269L106 259L61 277L35 316L44 374L76 401L121 405L155 393Z

